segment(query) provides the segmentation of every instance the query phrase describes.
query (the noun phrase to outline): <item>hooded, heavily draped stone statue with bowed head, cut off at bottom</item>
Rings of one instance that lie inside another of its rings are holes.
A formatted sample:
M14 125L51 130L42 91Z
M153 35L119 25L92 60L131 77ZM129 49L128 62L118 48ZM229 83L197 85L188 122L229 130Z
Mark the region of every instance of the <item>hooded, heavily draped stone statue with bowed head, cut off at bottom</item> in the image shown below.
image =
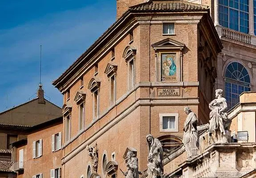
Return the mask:
M163 148L161 142L151 134L146 136L148 144L147 174L148 178L163 176Z

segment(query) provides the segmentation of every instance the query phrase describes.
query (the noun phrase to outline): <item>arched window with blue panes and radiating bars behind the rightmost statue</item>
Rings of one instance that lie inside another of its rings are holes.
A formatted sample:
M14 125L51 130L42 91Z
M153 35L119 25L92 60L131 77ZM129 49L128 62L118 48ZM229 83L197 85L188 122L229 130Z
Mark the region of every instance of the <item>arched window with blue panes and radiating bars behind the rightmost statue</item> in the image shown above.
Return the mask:
M238 62L232 62L225 71L225 98L228 109L239 102L239 95L250 91L250 76L246 68Z

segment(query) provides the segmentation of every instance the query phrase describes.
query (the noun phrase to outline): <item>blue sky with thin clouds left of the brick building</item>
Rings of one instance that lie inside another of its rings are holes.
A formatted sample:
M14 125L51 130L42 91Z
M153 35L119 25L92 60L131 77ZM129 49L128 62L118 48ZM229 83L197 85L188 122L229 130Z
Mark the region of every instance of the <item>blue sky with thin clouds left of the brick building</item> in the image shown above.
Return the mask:
M0 112L36 97L42 44L46 99L52 85L116 18L116 0L0 0Z

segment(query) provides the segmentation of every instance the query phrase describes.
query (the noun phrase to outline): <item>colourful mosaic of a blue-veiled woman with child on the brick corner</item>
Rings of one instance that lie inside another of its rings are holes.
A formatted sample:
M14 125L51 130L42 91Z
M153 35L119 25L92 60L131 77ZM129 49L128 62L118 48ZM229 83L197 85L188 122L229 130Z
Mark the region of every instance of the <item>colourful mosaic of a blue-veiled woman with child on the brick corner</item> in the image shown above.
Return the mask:
M176 81L176 54L161 54L161 81Z

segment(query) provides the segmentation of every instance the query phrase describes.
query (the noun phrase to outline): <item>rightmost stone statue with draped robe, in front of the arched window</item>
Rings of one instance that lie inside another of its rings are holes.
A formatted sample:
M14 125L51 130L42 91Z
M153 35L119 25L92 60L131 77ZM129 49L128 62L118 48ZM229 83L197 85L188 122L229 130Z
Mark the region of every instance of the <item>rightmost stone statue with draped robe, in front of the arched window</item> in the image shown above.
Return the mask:
M225 137L226 131L229 130L231 120L227 117L227 102L222 97L223 90L215 90L216 99L209 103L210 112L210 133L215 135L217 142L225 143L228 142L228 138Z

